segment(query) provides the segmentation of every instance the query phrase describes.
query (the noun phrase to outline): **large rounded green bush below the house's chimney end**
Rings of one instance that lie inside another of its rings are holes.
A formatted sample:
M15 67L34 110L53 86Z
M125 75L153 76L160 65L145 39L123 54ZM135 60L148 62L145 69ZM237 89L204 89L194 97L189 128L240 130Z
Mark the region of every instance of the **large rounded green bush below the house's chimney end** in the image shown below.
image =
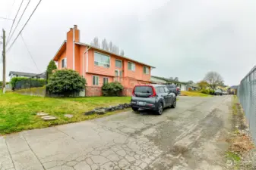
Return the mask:
M69 96L85 89L86 80L74 70L57 70L49 79L46 88L52 94Z

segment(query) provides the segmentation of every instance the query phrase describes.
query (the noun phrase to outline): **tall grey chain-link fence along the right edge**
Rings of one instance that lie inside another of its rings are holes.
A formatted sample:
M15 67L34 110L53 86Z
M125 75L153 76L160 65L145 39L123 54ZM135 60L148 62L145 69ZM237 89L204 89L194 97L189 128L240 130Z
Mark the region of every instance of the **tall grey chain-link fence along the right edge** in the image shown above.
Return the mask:
M240 82L237 95L256 144L256 66Z

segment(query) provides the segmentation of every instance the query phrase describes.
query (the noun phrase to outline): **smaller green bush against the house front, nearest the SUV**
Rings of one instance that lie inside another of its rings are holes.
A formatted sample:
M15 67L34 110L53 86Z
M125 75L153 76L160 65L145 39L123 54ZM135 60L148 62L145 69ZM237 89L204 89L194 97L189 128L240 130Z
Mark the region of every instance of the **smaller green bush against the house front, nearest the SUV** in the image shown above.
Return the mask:
M106 83L102 87L103 96L120 96L123 86L119 82Z

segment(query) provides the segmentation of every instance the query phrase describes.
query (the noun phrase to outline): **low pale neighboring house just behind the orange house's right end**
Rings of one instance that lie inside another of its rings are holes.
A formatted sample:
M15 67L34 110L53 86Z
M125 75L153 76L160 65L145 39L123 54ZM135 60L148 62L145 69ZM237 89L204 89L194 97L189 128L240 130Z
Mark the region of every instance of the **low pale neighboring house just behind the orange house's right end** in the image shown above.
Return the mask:
M179 82L179 81L175 81L173 79L167 79L164 77L159 77L159 76L151 76L150 78L151 83L153 84L172 84L172 85L177 85L181 91L186 91L186 86L187 83L186 82Z

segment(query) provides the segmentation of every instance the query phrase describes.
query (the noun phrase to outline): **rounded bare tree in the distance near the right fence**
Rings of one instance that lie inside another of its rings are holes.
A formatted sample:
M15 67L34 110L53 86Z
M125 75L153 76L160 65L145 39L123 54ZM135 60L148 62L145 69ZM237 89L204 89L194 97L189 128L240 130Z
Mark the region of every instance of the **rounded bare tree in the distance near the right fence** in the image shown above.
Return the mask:
M221 85L223 83L223 78L219 73L208 72L204 77L204 81L208 83L210 88L215 90L217 85Z

